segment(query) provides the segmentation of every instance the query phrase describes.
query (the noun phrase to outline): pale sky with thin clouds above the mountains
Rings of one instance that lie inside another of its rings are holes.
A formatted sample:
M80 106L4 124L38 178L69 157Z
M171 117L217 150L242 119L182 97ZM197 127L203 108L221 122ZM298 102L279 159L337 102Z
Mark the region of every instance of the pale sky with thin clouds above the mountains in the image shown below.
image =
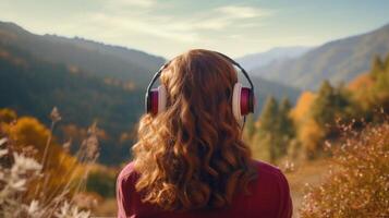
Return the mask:
M389 23L388 0L0 0L0 21L173 58L319 46Z

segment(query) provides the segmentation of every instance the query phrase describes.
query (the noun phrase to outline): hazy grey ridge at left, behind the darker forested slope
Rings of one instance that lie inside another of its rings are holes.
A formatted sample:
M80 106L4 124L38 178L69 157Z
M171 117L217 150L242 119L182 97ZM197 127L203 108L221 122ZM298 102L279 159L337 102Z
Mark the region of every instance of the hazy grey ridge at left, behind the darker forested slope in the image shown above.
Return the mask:
M101 43L56 35L32 34L13 23L0 22L0 41L39 59L63 63L92 74L144 86L165 62L161 57Z

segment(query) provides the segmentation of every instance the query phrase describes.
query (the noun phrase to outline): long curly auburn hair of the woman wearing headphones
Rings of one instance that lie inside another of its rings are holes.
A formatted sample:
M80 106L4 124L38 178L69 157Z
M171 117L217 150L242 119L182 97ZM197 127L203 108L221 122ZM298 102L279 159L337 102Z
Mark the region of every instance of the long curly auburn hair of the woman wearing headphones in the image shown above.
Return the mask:
M220 208L256 178L232 113L236 71L214 51L190 50L160 77L167 110L145 114L133 146L135 189L165 210Z

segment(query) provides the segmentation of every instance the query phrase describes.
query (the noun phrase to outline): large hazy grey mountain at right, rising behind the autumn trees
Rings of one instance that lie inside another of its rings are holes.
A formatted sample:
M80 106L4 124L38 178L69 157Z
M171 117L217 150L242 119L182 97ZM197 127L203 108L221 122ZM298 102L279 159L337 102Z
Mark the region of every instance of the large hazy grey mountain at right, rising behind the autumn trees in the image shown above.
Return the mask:
M367 71L374 56L389 52L389 24L370 33L342 38L314 48L300 58L276 61L253 74L303 89L315 89L323 80L349 82Z

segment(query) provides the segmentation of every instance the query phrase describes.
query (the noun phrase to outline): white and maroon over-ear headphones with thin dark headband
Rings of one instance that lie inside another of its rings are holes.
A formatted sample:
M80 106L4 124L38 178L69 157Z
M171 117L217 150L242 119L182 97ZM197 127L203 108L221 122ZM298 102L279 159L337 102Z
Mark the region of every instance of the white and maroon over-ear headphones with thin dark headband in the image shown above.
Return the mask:
M235 65L241 70L243 75L250 83L251 87L244 87L241 83L235 83L233 87L232 94L232 112L234 118L236 119L240 125L244 124L245 116L254 112L255 106L255 97L254 97L254 85L250 80L247 72L234 60L230 57L214 51L219 56L223 57L230 63ZM167 105L167 89L163 85L158 86L157 88L151 88L154 83L159 78L161 72L169 65L170 61L165 63L153 76L153 80L147 86L146 96L145 96L145 109L147 113L151 113L154 116L166 110Z

